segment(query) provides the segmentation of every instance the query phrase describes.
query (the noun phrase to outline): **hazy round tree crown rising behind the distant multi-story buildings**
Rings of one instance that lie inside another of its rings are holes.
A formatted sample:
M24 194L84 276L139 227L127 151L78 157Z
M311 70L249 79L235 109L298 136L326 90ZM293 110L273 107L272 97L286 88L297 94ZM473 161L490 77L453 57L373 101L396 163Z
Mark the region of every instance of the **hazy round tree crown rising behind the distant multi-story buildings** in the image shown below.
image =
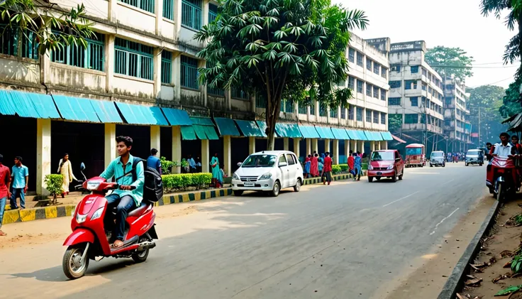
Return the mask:
M426 52L426 62L433 67L443 78L455 75L464 81L466 77L472 77L472 56L468 56L461 48L448 48L438 45L428 49Z

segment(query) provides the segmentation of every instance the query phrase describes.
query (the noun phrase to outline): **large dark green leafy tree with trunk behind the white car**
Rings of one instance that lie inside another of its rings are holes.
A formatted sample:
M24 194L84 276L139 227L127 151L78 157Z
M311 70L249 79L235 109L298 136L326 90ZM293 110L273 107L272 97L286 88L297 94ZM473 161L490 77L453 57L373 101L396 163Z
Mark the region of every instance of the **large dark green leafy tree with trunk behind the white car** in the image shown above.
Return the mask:
M352 97L345 82L349 30L365 29L365 13L330 0L223 0L216 21L196 33L207 41L198 55L207 67L199 81L209 87L242 88L266 99L268 149L282 99L307 96L331 107Z

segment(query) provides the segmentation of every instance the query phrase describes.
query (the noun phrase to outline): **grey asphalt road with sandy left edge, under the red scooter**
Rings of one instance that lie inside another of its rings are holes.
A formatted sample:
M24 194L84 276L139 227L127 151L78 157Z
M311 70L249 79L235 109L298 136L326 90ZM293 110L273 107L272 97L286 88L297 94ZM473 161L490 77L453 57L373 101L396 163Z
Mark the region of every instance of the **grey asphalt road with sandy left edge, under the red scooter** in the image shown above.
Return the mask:
M91 261L77 281L61 268L69 219L9 224L34 239L0 249L0 298L371 298L484 195L485 168L160 207L148 261Z

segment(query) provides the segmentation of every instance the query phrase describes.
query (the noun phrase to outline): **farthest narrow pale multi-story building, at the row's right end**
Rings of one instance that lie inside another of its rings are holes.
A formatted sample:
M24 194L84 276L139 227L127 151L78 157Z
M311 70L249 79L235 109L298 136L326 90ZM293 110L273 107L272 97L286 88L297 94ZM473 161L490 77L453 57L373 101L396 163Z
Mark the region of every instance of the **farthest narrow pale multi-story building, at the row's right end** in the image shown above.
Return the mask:
M467 151L471 143L468 99L465 82L455 77L444 80L444 134L448 137L448 151Z

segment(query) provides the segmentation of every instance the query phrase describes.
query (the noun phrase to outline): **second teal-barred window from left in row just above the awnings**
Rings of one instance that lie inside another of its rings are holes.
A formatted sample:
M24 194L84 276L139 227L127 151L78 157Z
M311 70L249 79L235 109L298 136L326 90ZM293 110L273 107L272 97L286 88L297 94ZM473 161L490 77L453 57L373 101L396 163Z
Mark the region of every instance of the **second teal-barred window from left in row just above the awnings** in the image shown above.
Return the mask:
M5 33L4 33L5 34ZM50 60L74 67L89 70L104 71L104 40L103 34L95 33L96 39L86 38L87 48L82 45L65 45L63 48L51 51Z

